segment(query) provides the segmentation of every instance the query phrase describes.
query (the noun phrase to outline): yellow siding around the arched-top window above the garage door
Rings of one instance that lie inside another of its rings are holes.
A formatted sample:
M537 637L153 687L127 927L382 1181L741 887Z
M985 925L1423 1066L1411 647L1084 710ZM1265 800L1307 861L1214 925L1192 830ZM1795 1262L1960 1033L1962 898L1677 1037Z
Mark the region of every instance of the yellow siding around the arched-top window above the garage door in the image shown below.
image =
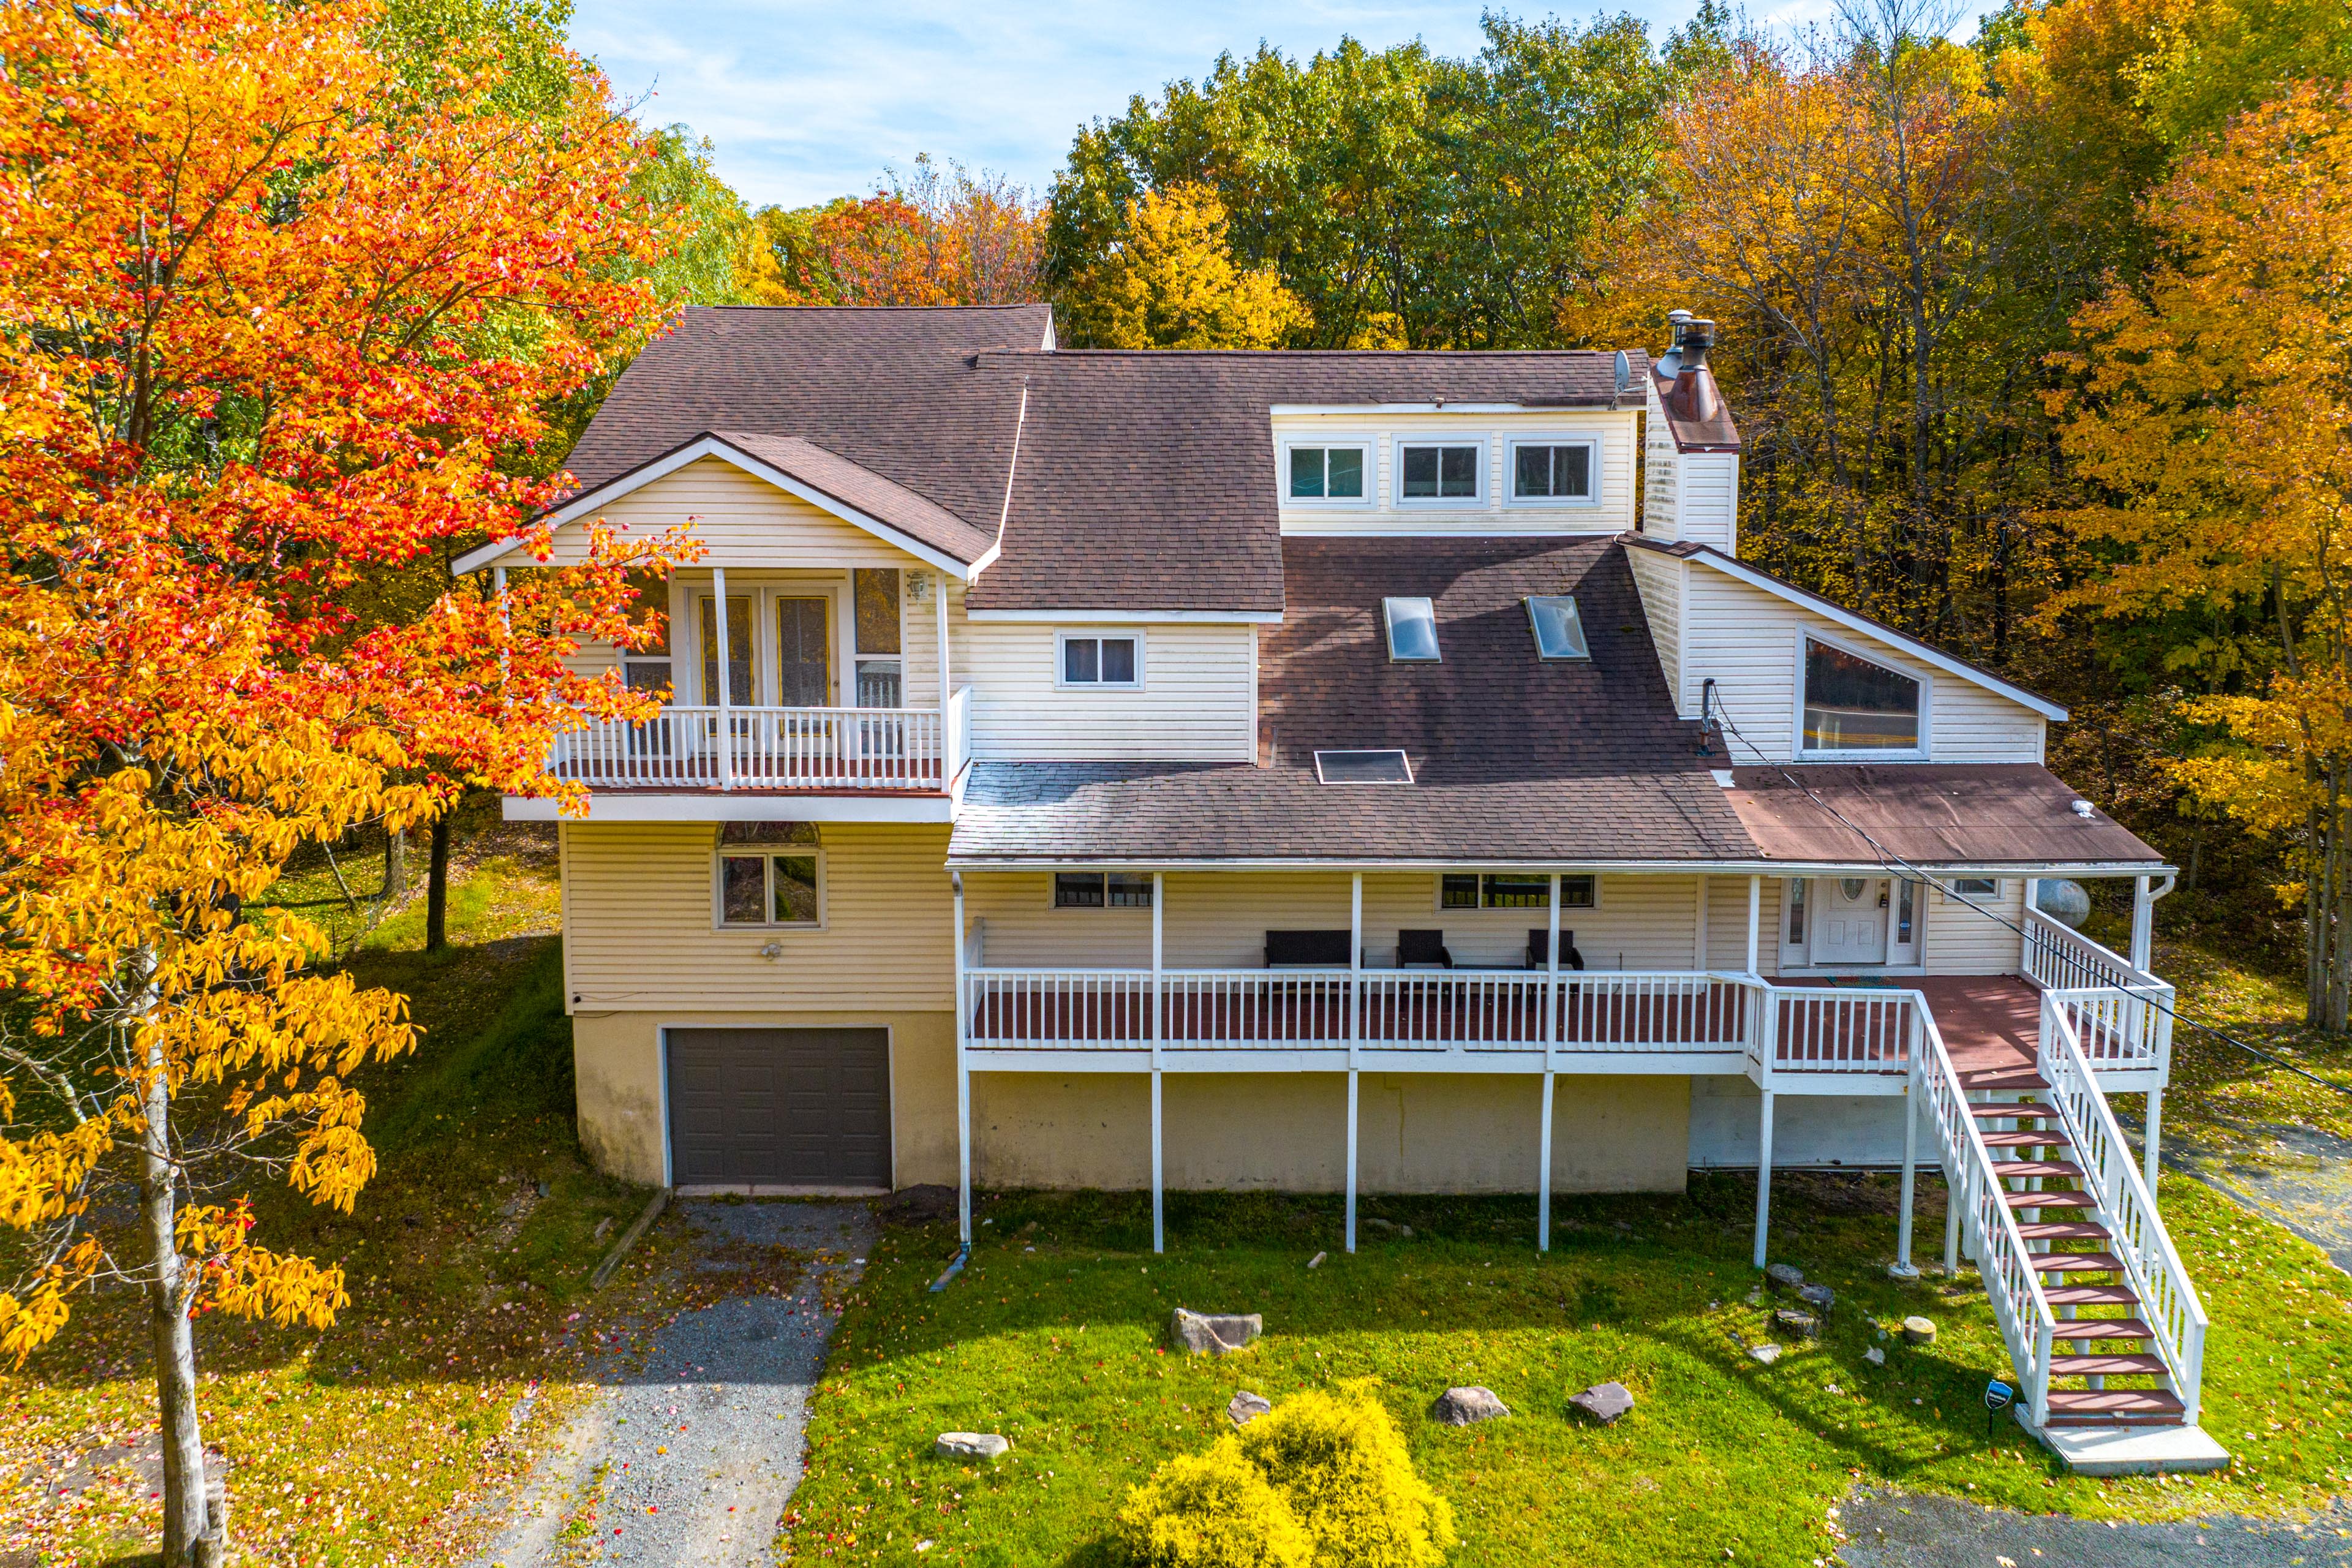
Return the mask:
M564 823L572 1009L948 1011L948 830L826 823L826 926L715 929L715 823ZM781 954L767 959L762 947Z

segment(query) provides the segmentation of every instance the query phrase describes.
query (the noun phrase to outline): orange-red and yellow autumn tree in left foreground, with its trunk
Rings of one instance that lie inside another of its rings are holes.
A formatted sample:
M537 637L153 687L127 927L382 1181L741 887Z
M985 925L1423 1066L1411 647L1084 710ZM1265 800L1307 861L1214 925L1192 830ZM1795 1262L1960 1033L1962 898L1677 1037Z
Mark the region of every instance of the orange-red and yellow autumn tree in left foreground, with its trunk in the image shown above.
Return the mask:
M626 571L682 552L602 541L510 607L355 618L372 576L550 498L517 475L656 324L666 242L590 68L515 113L496 63L419 82L376 21L0 7L0 1220L33 1248L0 1349L94 1281L143 1291L172 1568L223 1552L191 1316L348 1302L242 1192L348 1211L353 1074L412 1044L266 889L355 823L557 792L555 733L640 708L562 656L637 637Z

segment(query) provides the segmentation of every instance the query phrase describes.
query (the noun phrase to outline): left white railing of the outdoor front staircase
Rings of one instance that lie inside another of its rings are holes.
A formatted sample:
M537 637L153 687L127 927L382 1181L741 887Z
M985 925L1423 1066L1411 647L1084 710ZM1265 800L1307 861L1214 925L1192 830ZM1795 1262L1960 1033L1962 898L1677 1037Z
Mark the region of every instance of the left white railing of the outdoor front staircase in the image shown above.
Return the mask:
M1936 1016L1922 1006L1912 1011L1917 1023L1912 1046L1912 1093L1929 1105L1936 1143L1943 1154L1943 1173L1950 1201L1959 1204L1964 1237L1976 1253L1976 1272L1992 1298L1992 1316L2009 1342L2009 1361L2025 1385L2027 1420L2039 1432L2051 1415L2051 1352L2058 1338L2058 1314L2051 1312L2042 1293L2042 1274L2034 1269L2034 1253L2018 1234L2018 1215L2004 1201L1992 1152L1980 1138L1976 1117L1969 1114L1969 1093L1959 1086L1959 1072L1943 1048Z

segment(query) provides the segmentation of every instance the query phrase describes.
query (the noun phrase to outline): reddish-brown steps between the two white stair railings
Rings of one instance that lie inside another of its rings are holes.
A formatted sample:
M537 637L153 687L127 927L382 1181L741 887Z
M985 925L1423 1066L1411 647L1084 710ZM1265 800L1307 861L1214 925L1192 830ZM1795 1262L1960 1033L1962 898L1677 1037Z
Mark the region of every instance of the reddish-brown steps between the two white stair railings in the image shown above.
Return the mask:
M2049 1425L2178 1427L2185 1406L2173 1392L2173 1368L2138 1314L2140 1298L2122 1258L2103 1246L2110 1232L2084 1190L2084 1168L2067 1159L2065 1119L2034 1098L2049 1084L2030 1067L2004 1067L1962 1072L1959 1086L1992 1095L1969 1105L1976 1138L1992 1154L2006 1187L2002 1201L2018 1215L2018 1234L2034 1248L2042 1295L2060 1319ZM2114 1378L2131 1385L2117 1387Z

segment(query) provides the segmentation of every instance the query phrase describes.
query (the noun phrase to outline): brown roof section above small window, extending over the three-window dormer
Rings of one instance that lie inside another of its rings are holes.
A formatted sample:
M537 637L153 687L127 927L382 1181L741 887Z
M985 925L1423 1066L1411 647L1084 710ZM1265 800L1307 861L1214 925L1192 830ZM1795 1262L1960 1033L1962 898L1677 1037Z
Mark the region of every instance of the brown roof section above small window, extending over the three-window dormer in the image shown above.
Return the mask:
M1277 404L1618 404L1613 353L993 353L1028 386L978 614L1282 611ZM1630 360L1646 374L1639 355Z

